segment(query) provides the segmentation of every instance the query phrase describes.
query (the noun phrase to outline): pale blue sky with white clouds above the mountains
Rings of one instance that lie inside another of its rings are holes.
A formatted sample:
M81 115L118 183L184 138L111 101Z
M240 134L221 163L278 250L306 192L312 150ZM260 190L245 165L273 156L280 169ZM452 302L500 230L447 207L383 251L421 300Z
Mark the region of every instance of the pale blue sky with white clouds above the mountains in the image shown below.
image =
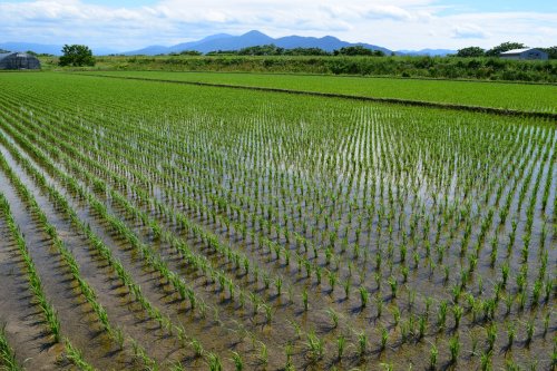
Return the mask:
M127 51L214 33L334 36L391 50L557 45L549 0L0 0L0 42Z

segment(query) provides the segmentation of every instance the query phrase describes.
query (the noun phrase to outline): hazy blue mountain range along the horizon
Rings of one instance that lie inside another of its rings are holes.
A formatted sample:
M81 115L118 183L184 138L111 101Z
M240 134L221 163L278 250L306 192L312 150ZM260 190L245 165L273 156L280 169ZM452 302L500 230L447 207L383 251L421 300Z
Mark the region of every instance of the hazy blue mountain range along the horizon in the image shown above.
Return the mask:
M125 56L156 56L156 55L167 55L172 52L182 51L199 51L203 53L216 50L240 50L242 48L262 46L274 43L275 46L284 49L293 48L320 48L326 51L333 51L344 47L362 46L372 50L381 50L387 55L390 55L392 50L384 47L379 47L375 45L369 45L363 42L348 42L342 41L332 36L325 36L322 38L315 37L303 37L303 36L286 36L282 38L272 38L260 31L250 31L241 36L232 36L227 33L217 33L208 36L204 39L197 41L189 41L177 43L174 46L148 46L143 49L131 50L131 51L115 51L110 49L95 49L92 51L97 56L120 53ZM27 51L32 50L38 53L50 53L58 56L61 53L61 46L55 45L41 45L41 43L28 43L28 42L4 42L0 43L0 49L12 50L12 51ZM412 56L446 56L448 53L453 53L455 50L446 49L423 49L423 50L400 50L394 51L397 55L412 55Z

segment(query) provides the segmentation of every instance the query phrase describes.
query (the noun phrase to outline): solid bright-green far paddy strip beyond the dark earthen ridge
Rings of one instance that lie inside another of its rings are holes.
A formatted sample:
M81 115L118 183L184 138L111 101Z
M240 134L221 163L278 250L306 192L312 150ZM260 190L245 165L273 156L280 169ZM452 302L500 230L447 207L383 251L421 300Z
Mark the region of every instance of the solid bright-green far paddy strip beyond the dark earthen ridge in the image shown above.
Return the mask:
M98 74L557 113L557 86L553 85L237 72L102 71Z

